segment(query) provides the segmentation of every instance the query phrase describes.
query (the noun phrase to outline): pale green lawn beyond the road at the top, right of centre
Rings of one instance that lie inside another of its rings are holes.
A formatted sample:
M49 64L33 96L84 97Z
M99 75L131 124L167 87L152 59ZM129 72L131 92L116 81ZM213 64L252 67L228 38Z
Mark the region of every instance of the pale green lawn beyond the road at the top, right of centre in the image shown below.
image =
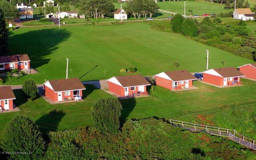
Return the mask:
M184 14L184 1L158 2L158 6L160 6L162 10ZM202 16L202 14L219 14L220 12L229 11L224 9L224 4L211 4L205 1L186 1L186 14L188 14L188 10L192 10L193 15L199 16Z

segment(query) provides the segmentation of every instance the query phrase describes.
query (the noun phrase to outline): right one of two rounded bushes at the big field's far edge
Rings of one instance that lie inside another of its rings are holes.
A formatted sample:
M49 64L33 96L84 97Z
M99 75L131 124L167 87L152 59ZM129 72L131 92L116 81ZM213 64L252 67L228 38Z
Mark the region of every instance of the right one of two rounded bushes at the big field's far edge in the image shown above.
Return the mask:
M196 26L196 23L192 19L186 18L182 24L182 33L186 36L197 36L198 27Z

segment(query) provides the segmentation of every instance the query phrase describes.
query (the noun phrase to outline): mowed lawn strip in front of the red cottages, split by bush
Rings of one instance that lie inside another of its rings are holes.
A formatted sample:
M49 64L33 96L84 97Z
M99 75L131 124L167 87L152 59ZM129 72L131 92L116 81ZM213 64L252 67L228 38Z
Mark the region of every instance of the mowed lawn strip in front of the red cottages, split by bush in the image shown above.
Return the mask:
M217 88L201 82L194 82L199 89L173 92L156 86L154 92L150 90L149 97L122 100L121 121L149 117L165 118L166 120L180 119L193 121L193 113L214 112L217 109L232 105L250 104L256 102L256 81L242 79L244 86L231 88ZM14 115L28 115L34 118L39 128L47 133L49 130L63 130L66 128L84 127L92 124L91 106L98 98L110 96L103 90L86 85L83 91L84 101L50 105L43 98L27 101L22 90L14 90L14 103L20 112L0 114L0 133ZM188 116L186 116L188 115ZM228 114L222 114L229 118ZM183 117L183 118L182 118ZM233 122L233 121L232 121ZM216 123L217 124L217 123ZM235 128L233 123L221 124L223 127ZM221 127L221 126L220 126ZM244 127L246 128L246 126ZM239 128L235 128L239 129ZM247 134L252 134L249 128Z

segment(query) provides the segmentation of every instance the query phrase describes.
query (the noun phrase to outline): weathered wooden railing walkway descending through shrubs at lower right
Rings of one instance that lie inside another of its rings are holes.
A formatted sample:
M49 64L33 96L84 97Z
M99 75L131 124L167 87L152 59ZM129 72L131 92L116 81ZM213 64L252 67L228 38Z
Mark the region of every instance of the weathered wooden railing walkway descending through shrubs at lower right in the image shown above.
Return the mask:
M172 120L172 119L170 119L170 123L174 126L179 126L195 132L206 132L208 134L213 134L217 136L229 137L229 139L233 140L234 142L237 142L248 148L252 148L253 150L256 150L256 140L253 140L242 134L239 134L234 129L207 126L203 124L195 124L195 123L183 122L180 120Z

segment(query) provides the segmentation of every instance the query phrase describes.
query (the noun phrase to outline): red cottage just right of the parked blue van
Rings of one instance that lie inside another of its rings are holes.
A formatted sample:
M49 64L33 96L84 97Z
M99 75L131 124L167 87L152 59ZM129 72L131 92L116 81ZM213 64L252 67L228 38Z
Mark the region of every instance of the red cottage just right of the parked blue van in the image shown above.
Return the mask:
M240 82L240 78L244 77L244 74L239 72L234 67L224 67L206 70L203 72L203 82L218 85L228 86Z

